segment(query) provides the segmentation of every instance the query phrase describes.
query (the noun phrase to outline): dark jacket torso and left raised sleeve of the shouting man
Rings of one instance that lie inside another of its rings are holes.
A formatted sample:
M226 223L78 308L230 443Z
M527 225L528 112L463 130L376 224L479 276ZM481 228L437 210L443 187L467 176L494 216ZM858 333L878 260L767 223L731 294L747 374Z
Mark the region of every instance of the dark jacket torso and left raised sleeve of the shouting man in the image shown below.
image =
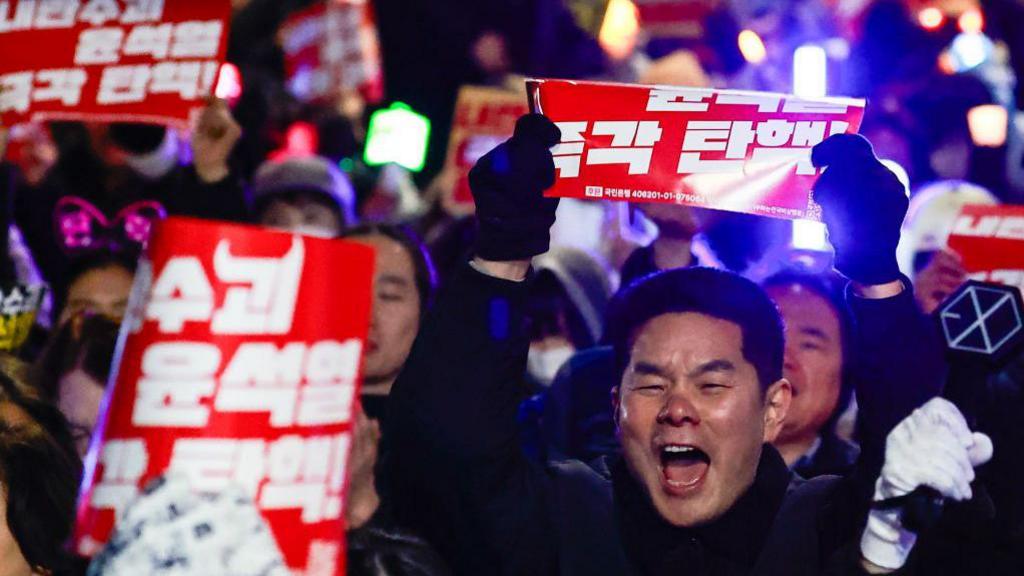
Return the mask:
M654 512L621 461L530 461L516 428L528 290L464 266L391 393L382 450L395 513L457 574L861 574L863 494L874 482L864 467L804 481L765 446L733 507L683 529Z

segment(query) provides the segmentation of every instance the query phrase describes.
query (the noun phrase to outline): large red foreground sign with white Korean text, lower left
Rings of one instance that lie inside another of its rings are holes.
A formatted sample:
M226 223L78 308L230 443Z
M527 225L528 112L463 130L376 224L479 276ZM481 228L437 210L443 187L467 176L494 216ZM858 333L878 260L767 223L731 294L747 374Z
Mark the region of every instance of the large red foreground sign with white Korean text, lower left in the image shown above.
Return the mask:
M373 250L172 217L122 325L79 496L92 556L164 472L252 496L296 574L344 574L346 465Z

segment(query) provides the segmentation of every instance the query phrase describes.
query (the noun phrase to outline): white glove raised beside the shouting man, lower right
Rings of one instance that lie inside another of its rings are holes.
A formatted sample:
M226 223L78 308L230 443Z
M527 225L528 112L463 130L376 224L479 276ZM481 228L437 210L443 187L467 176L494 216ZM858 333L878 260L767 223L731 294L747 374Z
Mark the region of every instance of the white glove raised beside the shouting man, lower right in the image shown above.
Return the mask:
M933 398L899 423L886 439L886 461L874 485L874 501L913 492L920 486L946 498L970 500L974 468L992 458L992 441L971 433L949 401ZM860 539L867 562L897 570L906 562L916 534L903 528L901 508L872 509Z

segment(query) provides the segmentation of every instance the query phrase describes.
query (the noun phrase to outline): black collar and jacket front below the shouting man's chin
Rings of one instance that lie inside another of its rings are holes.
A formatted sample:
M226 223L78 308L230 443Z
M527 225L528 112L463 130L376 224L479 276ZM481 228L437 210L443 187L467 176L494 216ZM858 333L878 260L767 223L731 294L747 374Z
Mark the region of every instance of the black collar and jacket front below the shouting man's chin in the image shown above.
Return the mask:
M674 527L657 513L622 459L611 465L623 545L644 576L745 574L754 566L792 474L765 445L751 488L722 518L699 528ZM681 571L685 566L687 570Z

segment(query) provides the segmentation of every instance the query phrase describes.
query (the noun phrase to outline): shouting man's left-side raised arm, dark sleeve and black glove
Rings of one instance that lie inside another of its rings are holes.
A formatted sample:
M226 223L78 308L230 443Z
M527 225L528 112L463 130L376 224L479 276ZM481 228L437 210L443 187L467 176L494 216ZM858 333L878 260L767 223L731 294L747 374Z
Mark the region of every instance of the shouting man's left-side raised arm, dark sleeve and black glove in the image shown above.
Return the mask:
M479 237L429 314L391 393L386 478L399 520L460 574L545 574L548 479L519 448L529 260L546 252L558 128L524 116L470 173Z

